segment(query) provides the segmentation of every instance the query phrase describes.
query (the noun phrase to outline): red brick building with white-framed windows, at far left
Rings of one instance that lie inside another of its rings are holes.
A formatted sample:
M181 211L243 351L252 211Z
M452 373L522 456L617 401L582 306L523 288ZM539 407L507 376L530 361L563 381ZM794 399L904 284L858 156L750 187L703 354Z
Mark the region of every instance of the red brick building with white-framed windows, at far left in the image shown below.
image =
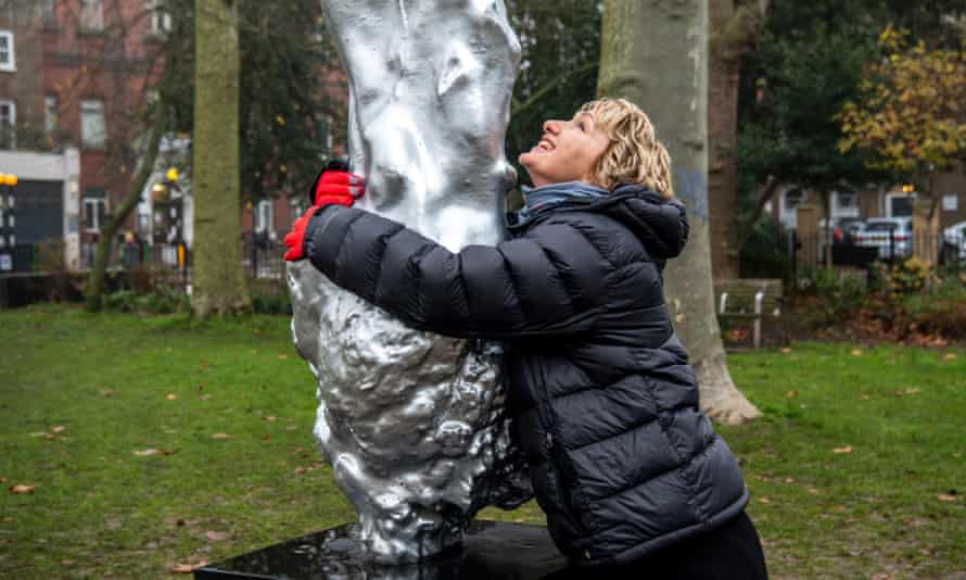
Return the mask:
M143 131L137 117L160 74L157 49L171 24L157 5L157 0L23 0L0 8L0 174L21 177L22 206L28 197L42 198L49 203L35 203L37 215L43 213L50 224L52 215L63 216L61 226L47 228L21 219L17 243L62 239L71 268L91 264L106 215L128 192L136 171L131 146ZM321 74L328 96L345 101L341 71ZM344 148L330 140L320 143L321 151L339 154ZM152 243L164 238L156 230L169 207L150 199L153 181L163 179L162 163L119 236L132 231ZM28 168L33 173L24 174ZM190 245L190 191L181 193L179 239ZM306 201L303 194L278 192L244 204L245 239L280 242Z

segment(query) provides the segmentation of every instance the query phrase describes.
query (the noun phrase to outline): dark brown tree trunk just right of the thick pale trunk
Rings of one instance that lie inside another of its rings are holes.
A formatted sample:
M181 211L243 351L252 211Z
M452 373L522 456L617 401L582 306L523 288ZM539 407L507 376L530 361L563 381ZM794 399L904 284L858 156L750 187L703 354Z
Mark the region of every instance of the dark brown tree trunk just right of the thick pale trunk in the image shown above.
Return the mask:
M738 83L741 58L758 37L767 2L710 0L708 205L715 279L740 276L738 244Z

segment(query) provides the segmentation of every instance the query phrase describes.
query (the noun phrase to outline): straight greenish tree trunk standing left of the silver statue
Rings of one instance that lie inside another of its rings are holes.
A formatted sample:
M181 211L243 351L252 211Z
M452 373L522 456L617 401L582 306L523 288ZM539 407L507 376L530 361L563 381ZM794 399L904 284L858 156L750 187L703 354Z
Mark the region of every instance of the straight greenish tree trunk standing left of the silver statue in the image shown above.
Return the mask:
M237 0L195 0L194 263L196 316L250 307L241 256Z

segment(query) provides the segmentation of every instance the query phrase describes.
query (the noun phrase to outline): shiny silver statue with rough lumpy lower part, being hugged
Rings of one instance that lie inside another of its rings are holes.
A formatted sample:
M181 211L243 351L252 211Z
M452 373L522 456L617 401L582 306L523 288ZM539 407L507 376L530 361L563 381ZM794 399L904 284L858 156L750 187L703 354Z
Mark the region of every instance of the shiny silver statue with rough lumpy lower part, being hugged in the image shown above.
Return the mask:
M322 0L349 80L361 206L452 251L495 244L516 181L504 139L520 62L503 0ZM318 382L315 436L382 562L459 543L486 505L530 483L510 438L499 348L412 330L307 261L288 282L298 353Z

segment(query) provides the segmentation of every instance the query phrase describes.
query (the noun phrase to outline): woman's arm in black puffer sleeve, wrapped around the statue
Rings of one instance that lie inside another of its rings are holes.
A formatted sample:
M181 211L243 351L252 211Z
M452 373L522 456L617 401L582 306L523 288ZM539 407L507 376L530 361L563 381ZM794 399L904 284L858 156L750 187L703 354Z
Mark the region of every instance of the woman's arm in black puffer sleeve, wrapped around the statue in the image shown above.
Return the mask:
M303 249L340 287L414 328L460 338L589 329L602 311L610 270L589 241L564 225L453 253L396 222L340 206L312 218Z

